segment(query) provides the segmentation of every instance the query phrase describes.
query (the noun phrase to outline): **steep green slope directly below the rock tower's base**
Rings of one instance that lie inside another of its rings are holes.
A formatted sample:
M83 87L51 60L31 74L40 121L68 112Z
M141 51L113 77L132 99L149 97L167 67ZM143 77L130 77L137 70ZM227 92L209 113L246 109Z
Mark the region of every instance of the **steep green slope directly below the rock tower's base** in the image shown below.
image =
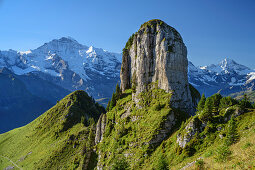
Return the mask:
M127 157L131 169L141 168L162 141L154 140L155 137L164 138L162 136L171 134L189 117L171 108L171 94L162 89L140 93L138 99L140 102L136 105L132 100L132 90L127 90L116 106L107 112L104 138L97 146L102 154L100 166L111 169ZM175 119L174 124L165 127L169 116ZM169 131L165 131L166 128ZM162 134L161 130L166 133Z

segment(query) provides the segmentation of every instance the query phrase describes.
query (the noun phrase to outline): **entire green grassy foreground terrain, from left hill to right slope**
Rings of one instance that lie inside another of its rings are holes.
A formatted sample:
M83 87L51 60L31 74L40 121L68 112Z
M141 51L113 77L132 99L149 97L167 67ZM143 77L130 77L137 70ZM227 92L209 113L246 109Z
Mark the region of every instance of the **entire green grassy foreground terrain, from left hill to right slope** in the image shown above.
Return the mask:
M95 121L104 109L83 91L66 96L30 124L0 135L0 168L255 168L255 111L248 101L202 96L190 116L172 108L162 89L132 95L132 89L115 94L96 146Z

